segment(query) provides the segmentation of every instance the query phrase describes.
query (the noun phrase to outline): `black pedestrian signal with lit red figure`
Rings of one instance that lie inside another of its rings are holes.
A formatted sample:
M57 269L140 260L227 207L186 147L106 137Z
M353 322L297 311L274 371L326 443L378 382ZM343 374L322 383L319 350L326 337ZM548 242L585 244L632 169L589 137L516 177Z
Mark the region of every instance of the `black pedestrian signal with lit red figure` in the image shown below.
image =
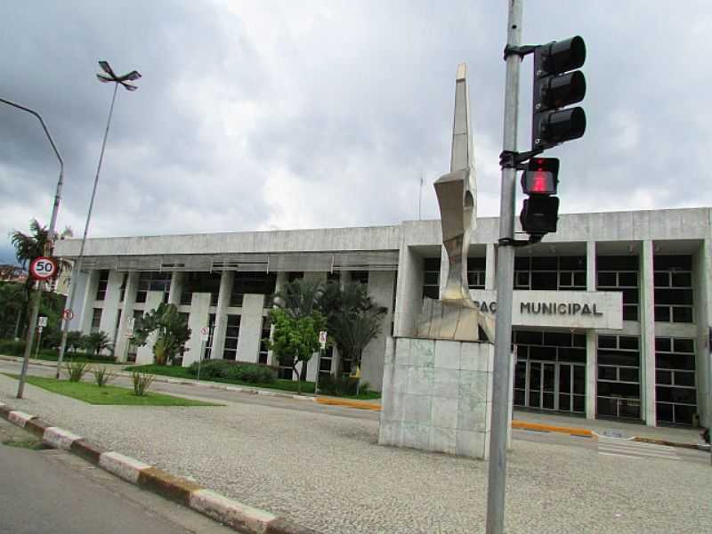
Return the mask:
M557 158L531 158L522 174L522 190L529 198L524 199L519 221L522 231L536 240L556 231L559 220L559 198L556 187L559 183L559 160Z

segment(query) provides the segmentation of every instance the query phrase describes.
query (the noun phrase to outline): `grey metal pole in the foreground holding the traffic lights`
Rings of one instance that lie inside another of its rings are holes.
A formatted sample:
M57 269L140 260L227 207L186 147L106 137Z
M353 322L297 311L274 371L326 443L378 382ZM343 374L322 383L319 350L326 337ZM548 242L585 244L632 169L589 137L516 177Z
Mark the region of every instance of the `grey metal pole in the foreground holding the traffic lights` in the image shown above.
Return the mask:
M507 44L519 46L522 39L522 0L508 0ZM522 59L511 54L506 59L505 119L503 150L516 151L519 108L519 69ZM502 168L499 204L499 239L514 239L514 182L516 170ZM497 250L497 323L490 433L490 473L487 487L487 534L505 530L506 435L509 428L512 358L512 283L514 248Z

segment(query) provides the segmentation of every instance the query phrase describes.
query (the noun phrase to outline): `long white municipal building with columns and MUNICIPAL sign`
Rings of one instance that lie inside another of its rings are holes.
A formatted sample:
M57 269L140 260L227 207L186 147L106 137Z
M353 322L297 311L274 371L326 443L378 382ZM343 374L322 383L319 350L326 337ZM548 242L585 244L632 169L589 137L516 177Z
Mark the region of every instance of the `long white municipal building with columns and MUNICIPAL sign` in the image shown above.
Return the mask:
M559 231L517 249L514 402L530 409L619 417L647 425L712 425L712 208L562 215ZM477 223L470 288L495 301L498 219ZM79 240L58 241L74 258ZM204 357L272 363L269 296L288 279L359 279L388 309L362 375L380 388L386 338L412 336L424 295L436 298L439 221L303 231L89 239L73 329L100 329L127 347L127 319L178 305L193 336L183 365ZM445 259L445 261L441 261ZM613 292L611 294L610 292ZM275 362L276 363L276 362ZM309 377L316 375L316 360ZM322 360L321 371L333 368Z

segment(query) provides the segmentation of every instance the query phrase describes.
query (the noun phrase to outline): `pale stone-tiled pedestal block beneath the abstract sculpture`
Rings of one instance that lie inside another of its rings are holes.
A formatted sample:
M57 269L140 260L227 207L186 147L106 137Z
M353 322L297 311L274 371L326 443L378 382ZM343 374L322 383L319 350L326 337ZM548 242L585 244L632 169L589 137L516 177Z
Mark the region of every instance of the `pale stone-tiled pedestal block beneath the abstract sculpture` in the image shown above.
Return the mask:
M389 338L378 443L490 457L493 361L488 343Z

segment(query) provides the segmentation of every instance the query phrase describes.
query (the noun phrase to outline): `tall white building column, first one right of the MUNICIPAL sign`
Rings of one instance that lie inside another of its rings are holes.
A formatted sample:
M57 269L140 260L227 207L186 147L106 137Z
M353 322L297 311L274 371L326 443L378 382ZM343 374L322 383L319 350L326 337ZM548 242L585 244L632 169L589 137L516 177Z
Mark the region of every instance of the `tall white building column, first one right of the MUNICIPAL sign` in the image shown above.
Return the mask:
M655 417L655 284L653 243L643 241L640 255L640 366L641 417L648 426L657 426Z

